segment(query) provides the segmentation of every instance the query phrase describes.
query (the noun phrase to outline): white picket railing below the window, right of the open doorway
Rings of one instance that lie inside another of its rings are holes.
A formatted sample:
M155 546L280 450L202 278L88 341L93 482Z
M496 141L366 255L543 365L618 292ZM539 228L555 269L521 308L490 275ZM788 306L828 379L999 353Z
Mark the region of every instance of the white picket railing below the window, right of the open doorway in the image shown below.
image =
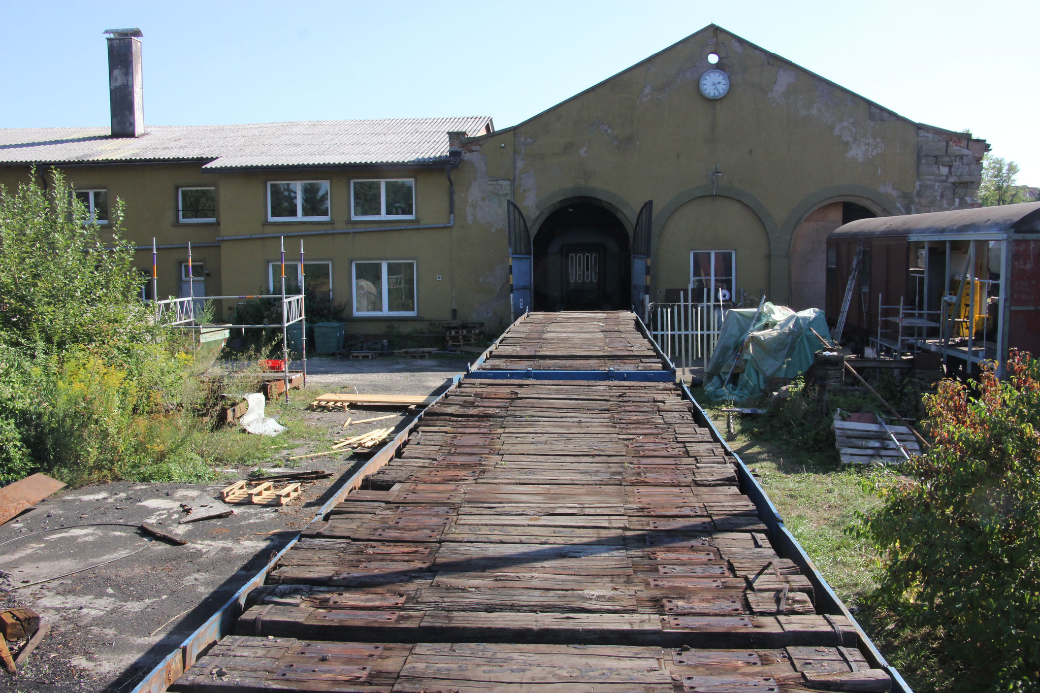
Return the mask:
M648 327L657 344L676 368L707 367L719 343L719 332L732 303L684 300L650 303Z

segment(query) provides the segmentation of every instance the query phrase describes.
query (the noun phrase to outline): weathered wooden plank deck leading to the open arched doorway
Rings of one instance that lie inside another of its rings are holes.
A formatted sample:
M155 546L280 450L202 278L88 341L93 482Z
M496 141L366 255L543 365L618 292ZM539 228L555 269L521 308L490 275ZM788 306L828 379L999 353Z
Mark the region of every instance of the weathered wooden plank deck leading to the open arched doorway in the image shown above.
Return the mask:
M517 349L568 361L571 314L537 317ZM692 406L673 383L463 380L171 690L889 690Z

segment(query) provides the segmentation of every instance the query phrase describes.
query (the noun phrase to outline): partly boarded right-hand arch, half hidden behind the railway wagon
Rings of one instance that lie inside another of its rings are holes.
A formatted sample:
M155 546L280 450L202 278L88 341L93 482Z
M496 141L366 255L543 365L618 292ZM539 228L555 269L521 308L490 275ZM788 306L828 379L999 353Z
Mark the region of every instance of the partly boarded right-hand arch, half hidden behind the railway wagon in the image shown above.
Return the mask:
M827 305L827 237L838 226L878 216L854 202L832 202L813 210L790 241L790 306L823 310Z

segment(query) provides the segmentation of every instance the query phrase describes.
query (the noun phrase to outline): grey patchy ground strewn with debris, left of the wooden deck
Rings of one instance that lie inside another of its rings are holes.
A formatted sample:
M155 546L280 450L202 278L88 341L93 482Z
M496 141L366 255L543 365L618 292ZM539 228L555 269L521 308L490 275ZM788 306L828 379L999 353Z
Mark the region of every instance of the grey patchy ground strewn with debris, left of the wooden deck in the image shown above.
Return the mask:
M430 395L446 389L465 367L462 358L308 361L307 390L290 393L290 407L313 431L280 451L269 468L283 469L293 463L289 456L323 450L329 441L341 437L347 417L399 415L374 408L304 412L313 397L355 388L361 394ZM396 431L413 417L399 415L350 431L391 425ZM0 672L0 692L131 690L304 528L358 464L345 453L298 462L297 470L321 469L333 476L305 486L301 498L281 508L235 506L231 517L179 525L188 516L186 508L196 516L226 509L217 494L227 482L116 482L61 491L0 527L0 541L22 537L0 547L0 568L9 575L0 578L0 609L32 608L52 627L17 676ZM246 471L236 470L234 478L243 478ZM135 529L145 522L189 543L149 541ZM43 530L54 531L27 536ZM118 560L29 584L111 559ZM11 645L17 652L21 643Z

